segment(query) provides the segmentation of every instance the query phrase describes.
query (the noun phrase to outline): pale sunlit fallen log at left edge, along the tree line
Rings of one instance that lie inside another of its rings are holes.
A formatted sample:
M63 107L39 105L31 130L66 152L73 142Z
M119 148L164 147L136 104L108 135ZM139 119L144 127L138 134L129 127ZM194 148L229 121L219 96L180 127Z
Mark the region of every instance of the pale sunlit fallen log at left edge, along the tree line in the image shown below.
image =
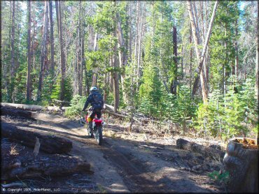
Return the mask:
M55 111L55 112L62 112L59 107L43 107L39 105L24 105L24 104L14 104L14 103L1 103L1 107L8 107L8 108L16 108L21 110L30 110L30 111Z

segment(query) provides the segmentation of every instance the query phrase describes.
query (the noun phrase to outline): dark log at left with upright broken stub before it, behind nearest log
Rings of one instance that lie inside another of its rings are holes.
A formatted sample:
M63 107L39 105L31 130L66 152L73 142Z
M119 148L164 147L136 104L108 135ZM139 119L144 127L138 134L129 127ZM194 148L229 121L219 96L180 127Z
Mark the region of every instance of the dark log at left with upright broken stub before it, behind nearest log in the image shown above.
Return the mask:
M38 137L41 143L40 151L45 151L50 154L67 154L72 148L72 142L62 137L41 135L4 122L1 123L1 135L2 137L7 137L10 140L20 142L28 147L34 147L36 137Z

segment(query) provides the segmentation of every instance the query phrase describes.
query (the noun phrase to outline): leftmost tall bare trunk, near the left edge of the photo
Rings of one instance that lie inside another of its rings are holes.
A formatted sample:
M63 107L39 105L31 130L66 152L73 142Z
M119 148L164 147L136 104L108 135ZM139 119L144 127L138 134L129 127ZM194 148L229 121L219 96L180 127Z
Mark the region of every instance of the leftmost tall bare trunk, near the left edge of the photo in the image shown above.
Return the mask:
M13 96L14 79L15 79L15 1L12 8L12 31L10 37L10 99Z

